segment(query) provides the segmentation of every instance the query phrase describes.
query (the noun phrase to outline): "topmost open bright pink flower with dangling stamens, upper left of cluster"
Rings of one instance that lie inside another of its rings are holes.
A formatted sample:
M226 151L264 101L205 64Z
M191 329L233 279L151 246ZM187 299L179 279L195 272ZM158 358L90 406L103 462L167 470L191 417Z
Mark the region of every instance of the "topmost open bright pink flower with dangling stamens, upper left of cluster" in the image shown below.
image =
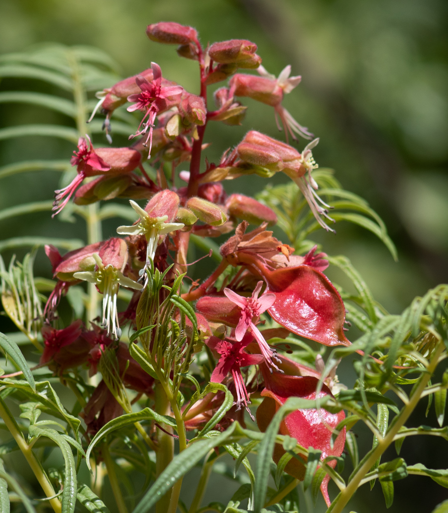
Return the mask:
M160 69L160 66L158 64L151 63L151 68L153 72L153 80L151 82L148 82L146 78L141 75L137 75L137 77L135 77L135 83L140 87L141 93L131 94L128 96L128 102L135 103L127 109L129 112L133 112L134 110L146 111L137 132L130 135L129 139L146 133L149 128L148 136L144 142L144 146L147 146L149 141L148 159L151 156L152 129L154 128L155 116L157 116L159 112L163 112L170 108L173 101L175 102L176 100L180 100L180 95L183 91L181 86L162 87L162 70ZM176 96L179 96L179 98L176 98ZM148 121L144 123L146 117L148 117ZM143 129L140 130L142 124Z

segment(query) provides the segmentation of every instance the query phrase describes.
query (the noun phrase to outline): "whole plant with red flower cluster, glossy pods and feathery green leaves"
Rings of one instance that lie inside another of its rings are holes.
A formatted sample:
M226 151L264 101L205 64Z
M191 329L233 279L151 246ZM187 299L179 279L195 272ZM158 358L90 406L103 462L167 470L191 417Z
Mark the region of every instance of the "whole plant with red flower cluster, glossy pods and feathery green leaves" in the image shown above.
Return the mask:
M304 494L316 501L321 490L327 511L339 513L366 483L380 482L387 507L394 481L410 473L447 486L447 470L408 465L399 452L408 436L448 439L448 374L435 379L448 343L448 287L390 315L348 259L330 257L308 239L318 229L333 231L333 222L351 221L374 232L395 257L377 214L342 190L332 171L318 168L312 154L318 139L282 106L300 82L289 66L276 78L261 66L254 43L204 48L196 30L177 23L155 23L146 33L197 62L200 94L171 82L156 63L119 81L110 58L87 47L44 46L0 60L2 76L65 91L64 97L0 91L1 101L49 108L76 124L13 127L0 131L2 138L46 135L77 145L71 160L1 168L0 178L65 171L54 203L9 208L1 218L52 210L54 223L80 216L87 226L87 245L42 237L0 242L2 251L36 246L23 262L13 258L7 267L0 259L2 304L19 330L0 334L7 357L0 417L10 434L2 446L5 465L0 461L2 510L15 494L29 512L48 506L72 513L77 503L92 513L108 506L120 513L305 511ZM216 107L207 103L209 87ZM95 105L87 97L99 89ZM240 97L272 106L286 142L250 130L220 162L208 162L207 125L242 124L247 107ZM104 122L96 120L100 115ZM102 147L102 128L109 143L114 133L126 135L130 146ZM302 151L288 144L296 134L312 140ZM257 199L227 195L223 186L278 172L290 183L268 183ZM122 221L118 236L103 240L108 218ZM276 224L287 243L269 229ZM42 245L54 281L33 276ZM213 262L208 274L189 270L193 248ZM345 272L356 293L332 284L328 265ZM352 324L361 332L356 340L350 331L347 337ZM29 351L25 360L17 344L33 344L38 361ZM358 379L340 383L337 365L354 354ZM406 427L426 396L439 427ZM359 423L372 444L361 456ZM393 443L397 458L382 461ZM42 465L39 447L59 451L63 466ZM14 477L8 451L15 449L42 488L38 500ZM77 477L85 464L89 482ZM207 506L210 473L223 465L233 467L240 487ZM193 499L185 504L182 479L198 466ZM113 498L104 494L106 479Z

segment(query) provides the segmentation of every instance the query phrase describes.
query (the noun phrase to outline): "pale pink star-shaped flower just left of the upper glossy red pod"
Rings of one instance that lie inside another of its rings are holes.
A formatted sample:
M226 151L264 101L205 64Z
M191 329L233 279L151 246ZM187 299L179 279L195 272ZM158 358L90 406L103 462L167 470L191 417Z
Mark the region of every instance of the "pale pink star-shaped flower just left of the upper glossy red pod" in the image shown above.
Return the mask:
M224 289L224 294L227 296L227 299L241 308L241 318L235 329L235 338L237 341L241 342L244 334L249 330L258 342L261 353L263 354L266 362L271 367L278 370L277 365L272 361L272 359L276 359L274 350L269 347L267 342L264 340L263 335L260 333L260 330L254 324L254 319L257 320L265 310L274 304L276 300L275 294L262 294L259 298L258 294L260 293L262 286L263 282L259 281L250 298L245 298L228 288Z

